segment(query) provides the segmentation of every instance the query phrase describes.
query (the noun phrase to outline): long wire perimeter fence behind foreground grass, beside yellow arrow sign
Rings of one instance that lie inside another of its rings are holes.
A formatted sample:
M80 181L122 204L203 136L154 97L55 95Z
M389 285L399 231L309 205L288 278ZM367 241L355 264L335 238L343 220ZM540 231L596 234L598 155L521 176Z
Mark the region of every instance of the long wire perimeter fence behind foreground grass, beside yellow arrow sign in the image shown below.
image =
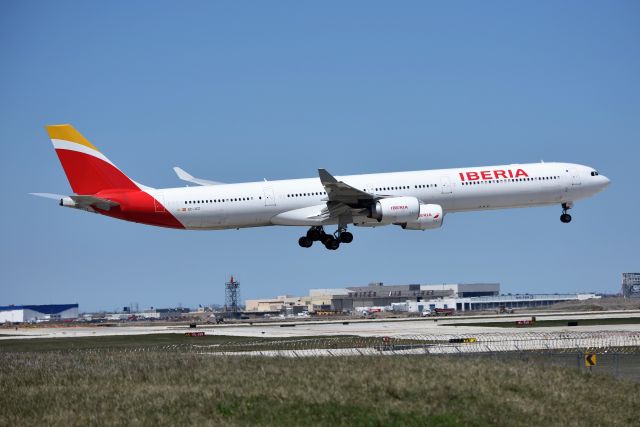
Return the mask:
M185 336L186 335L186 336ZM126 344L57 349L69 352L175 352L212 357L464 357L478 361L525 360L606 372L640 381L640 333L496 332L471 335L230 337L207 333L167 334L167 342L128 337ZM35 341L35 340L34 340ZM1 344L0 344L1 346Z

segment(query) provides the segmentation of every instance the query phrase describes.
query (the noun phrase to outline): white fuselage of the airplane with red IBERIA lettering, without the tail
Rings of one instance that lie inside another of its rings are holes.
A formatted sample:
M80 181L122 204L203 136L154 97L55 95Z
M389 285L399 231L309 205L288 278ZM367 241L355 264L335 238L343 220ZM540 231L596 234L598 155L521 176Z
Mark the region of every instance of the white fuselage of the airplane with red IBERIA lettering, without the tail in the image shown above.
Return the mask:
M520 172L519 172L520 171ZM571 205L604 189L609 180L593 168L570 163L535 163L378 173L336 177L364 192L411 196L442 206L444 214L551 204ZM326 207L319 178L149 190L188 229L267 225L314 226L338 219L315 218ZM384 225L353 217L353 224Z

